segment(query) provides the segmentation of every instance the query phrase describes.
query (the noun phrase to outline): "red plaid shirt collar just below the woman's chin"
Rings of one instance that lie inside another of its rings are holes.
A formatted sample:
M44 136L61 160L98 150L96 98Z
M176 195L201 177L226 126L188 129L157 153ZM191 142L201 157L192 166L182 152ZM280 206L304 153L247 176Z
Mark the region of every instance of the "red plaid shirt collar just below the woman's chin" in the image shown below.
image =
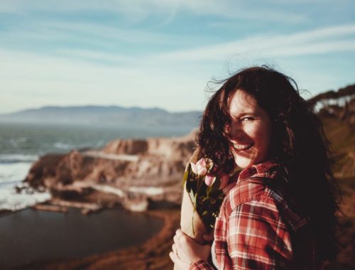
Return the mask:
M258 163L249 168L245 168L241 173L239 173L239 177L237 183L249 179L249 178L270 178L273 179L278 175L280 171L280 164L266 162L266 163Z

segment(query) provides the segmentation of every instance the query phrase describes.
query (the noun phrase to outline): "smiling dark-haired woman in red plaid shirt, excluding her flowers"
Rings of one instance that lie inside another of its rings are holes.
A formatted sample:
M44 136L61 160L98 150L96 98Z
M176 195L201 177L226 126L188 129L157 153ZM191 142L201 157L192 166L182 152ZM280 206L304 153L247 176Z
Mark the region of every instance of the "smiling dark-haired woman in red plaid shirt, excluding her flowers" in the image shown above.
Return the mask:
M266 67L229 77L207 104L197 144L225 173L243 170L229 180L212 248L176 232L175 268L319 269L336 257L329 144L290 77Z

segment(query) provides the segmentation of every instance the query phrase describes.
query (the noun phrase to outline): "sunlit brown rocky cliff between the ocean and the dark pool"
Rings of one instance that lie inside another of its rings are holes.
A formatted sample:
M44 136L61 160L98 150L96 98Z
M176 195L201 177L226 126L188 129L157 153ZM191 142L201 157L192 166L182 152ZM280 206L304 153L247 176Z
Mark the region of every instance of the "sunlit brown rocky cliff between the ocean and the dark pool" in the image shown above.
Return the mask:
M146 208L147 201L157 200L179 204L195 136L192 131L177 138L118 139L102 149L48 154L33 164L25 182L57 198L99 190L116 194L127 207Z

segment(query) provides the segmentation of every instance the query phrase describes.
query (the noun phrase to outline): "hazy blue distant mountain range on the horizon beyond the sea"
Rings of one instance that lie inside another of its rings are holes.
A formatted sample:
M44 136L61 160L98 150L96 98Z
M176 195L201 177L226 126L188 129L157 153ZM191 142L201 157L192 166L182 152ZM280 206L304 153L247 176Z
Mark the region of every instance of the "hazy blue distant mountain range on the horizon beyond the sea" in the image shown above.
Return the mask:
M164 109L139 107L83 106L42 107L12 114L0 114L1 122L35 124L80 124L97 126L198 126L202 112L167 112Z

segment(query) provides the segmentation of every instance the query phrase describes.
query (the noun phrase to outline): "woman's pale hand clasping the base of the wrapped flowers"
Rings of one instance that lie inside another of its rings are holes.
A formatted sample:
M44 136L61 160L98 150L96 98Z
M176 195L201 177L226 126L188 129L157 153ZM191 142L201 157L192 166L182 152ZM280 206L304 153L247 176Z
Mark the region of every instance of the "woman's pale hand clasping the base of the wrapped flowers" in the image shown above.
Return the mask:
M190 264L195 261L207 261L211 253L209 244L197 244L191 237L184 234L181 229L176 231L174 236L173 252L170 252L170 259L178 269L189 269Z

